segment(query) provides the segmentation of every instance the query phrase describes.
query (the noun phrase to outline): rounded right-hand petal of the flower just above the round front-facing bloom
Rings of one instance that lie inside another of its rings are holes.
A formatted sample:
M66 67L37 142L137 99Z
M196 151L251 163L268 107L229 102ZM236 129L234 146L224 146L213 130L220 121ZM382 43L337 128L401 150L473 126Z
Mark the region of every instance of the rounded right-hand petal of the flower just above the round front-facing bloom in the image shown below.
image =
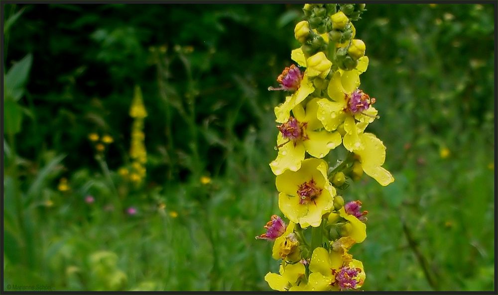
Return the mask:
M308 131L306 135L308 140L304 141L304 147L310 155L316 158L323 158L331 149L338 147L342 142L339 132Z

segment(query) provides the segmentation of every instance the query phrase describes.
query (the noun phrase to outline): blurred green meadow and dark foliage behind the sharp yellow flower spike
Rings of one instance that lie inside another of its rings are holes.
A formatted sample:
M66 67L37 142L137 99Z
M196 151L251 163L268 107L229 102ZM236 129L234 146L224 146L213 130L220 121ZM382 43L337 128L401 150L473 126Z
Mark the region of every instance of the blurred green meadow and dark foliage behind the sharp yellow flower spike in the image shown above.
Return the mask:
M292 63L302 5L2 5L4 290L268 291L278 262L254 236L279 214L284 93L266 89ZM368 130L396 180L343 192L369 211L351 250L363 289L491 291L494 4L366 8ZM135 85L138 184L123 170Z

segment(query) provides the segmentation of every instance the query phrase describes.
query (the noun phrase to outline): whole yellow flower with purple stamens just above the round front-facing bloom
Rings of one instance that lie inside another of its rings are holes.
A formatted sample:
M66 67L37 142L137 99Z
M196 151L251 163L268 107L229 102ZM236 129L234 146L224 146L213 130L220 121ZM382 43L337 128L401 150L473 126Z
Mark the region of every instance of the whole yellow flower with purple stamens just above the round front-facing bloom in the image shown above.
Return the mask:
M317 119L317 101L314 98L306 105L306 111L301 104L292 109L294 117L279 127L277 136L278 155L270 163L275 175L290 169L297 171L301 167L305 151L316 158L323 158L329 151L341 144L338 132L323 130L322 123Z

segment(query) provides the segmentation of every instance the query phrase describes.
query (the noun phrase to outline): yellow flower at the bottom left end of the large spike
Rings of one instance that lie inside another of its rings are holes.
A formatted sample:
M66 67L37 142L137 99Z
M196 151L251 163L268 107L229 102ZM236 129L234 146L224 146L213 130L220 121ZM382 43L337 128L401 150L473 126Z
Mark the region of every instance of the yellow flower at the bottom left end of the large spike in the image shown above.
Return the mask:
M297 286L304 278L306 269L302 263L286 264L285 267L280 265L279 273L267 273L264 280L273 290L289 291L291 287Z

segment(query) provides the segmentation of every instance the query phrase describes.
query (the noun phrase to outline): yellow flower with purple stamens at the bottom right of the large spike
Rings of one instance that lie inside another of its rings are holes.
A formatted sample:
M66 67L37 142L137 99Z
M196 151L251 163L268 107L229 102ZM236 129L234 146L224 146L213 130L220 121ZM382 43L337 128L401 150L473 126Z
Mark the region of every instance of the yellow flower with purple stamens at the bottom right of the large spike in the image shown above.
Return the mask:
M312 274L321 274L323 277L318 277L320 285L328 282L326 290L330 291L361 288L366 278L361 261L353 259L347 252L332 250L329 253L322 247L313 251L309 270Z

